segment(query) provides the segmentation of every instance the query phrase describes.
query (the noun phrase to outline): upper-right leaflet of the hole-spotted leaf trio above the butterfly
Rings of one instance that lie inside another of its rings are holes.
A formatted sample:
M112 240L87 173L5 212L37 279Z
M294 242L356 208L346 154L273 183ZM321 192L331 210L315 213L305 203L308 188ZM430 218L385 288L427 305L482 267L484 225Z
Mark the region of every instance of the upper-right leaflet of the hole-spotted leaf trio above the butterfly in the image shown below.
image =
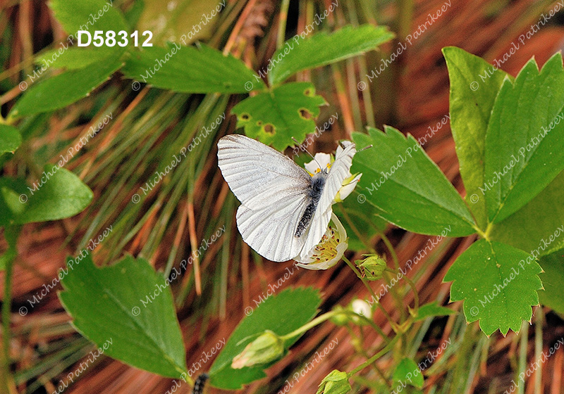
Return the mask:
M269 82L278 85L296 72L371 51L393 36L388 27L374 25L346 26L336 32L320 32L309 38L296 35L272 56L274 67L269 72Z

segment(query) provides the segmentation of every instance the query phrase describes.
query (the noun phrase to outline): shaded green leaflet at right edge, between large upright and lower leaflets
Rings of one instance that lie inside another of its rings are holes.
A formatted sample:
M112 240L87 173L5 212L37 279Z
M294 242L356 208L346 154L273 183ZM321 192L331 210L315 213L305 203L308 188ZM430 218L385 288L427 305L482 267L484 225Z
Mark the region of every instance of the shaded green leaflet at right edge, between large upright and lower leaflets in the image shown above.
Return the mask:
M529 253L537 250L541 256L564 247L564 172L523 208L494 224L490 239Z

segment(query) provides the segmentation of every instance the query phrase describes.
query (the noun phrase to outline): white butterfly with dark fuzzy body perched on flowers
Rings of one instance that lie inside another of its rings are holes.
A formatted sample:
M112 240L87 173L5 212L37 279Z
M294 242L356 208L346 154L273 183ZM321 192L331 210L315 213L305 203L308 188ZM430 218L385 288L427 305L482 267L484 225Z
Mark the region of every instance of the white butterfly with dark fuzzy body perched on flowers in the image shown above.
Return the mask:
M331 203L350 176L355 144L343 141L329 168L309 175L288 156L239 134L218 143L219 168L241 205L237 227L257 253L281 262L305 256L325 234Z

